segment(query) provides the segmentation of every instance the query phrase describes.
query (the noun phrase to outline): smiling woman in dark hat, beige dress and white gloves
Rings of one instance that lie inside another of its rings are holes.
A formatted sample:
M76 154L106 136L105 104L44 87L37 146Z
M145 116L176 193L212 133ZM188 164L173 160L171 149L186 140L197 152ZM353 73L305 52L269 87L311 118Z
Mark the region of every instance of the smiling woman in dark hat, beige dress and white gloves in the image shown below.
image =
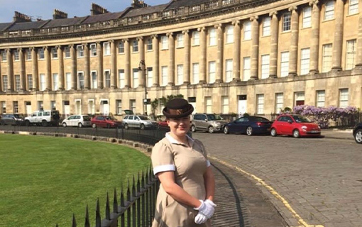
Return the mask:
M153 172L160 179L153 227L210 227L215 181L204 145L187 135L194 108L172 99L163 109L170 133L152 150Z

